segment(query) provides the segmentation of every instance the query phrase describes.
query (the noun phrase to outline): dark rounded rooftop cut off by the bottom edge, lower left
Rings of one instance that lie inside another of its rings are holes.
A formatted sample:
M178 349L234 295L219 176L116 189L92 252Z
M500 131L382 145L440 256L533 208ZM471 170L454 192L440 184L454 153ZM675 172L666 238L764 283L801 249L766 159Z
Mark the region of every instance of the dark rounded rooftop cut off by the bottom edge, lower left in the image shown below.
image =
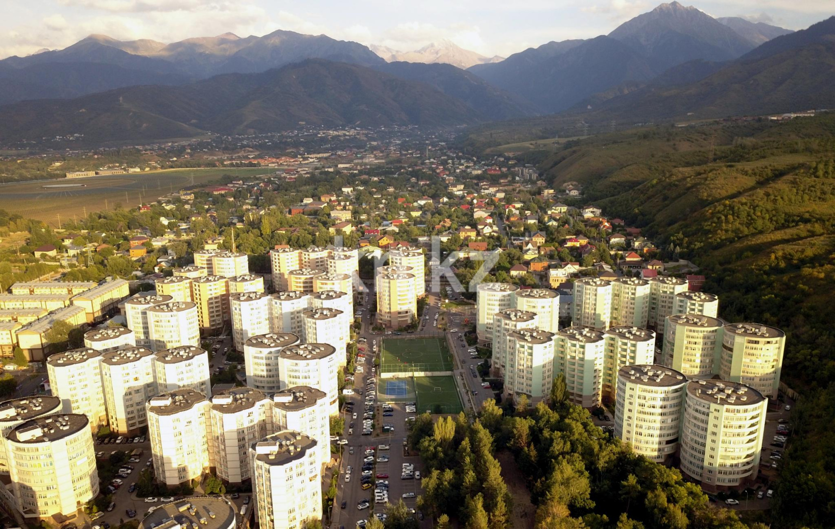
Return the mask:
M158 506L142 519L139 529L230 529L235 524L235 509L225 500L192 496Z

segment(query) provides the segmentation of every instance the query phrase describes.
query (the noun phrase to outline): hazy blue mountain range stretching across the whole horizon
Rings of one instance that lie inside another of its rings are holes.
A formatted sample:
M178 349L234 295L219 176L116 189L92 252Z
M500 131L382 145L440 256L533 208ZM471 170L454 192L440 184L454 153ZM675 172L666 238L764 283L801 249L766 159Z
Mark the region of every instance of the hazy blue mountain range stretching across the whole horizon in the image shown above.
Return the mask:
M504 60L449 41L399 53L288 31L168 44L91 35L0 60L0 104L53 99L0 108L0 140L251 134L300 122L455 126L565 111L645 122L821 107L835 86L833 25L792 33L673 2L608 35Z

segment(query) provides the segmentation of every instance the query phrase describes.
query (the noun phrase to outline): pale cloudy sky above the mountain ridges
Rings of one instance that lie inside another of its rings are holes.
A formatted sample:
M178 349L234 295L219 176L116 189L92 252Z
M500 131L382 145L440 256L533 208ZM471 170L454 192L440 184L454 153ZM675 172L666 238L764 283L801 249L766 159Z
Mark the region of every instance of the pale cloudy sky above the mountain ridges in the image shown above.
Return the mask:
M91 33L164 43L276 29L325 33L398 51L442 38L488 57L551 40L591 38L655 8L647 0L0 0L0 58L65 48ZM682 1L714 17L802 29L832 0Z

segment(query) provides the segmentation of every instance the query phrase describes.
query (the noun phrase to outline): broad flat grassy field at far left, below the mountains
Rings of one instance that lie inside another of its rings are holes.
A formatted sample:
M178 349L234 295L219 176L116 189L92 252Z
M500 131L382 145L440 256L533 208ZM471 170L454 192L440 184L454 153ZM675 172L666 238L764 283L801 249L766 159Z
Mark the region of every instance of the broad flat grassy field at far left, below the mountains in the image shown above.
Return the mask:
M90 213L114 209L117 203L125 207L139 206L185 186L216 181L222 175L254 176L269 172L271 170L263 167L170 169L71 180L15 182L0 186L0 209L57 227L58 216L67 221L73 215L83 216L85 208ZM79 186L43 187L68 184Z

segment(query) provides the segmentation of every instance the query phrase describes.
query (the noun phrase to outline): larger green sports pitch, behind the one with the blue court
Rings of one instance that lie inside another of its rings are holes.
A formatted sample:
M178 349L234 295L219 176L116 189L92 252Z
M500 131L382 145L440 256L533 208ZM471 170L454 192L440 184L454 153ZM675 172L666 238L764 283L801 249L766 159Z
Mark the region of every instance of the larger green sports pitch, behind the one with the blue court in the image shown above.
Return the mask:
M381 373L452 371L453 359L441 338L386 338L380 369Z

